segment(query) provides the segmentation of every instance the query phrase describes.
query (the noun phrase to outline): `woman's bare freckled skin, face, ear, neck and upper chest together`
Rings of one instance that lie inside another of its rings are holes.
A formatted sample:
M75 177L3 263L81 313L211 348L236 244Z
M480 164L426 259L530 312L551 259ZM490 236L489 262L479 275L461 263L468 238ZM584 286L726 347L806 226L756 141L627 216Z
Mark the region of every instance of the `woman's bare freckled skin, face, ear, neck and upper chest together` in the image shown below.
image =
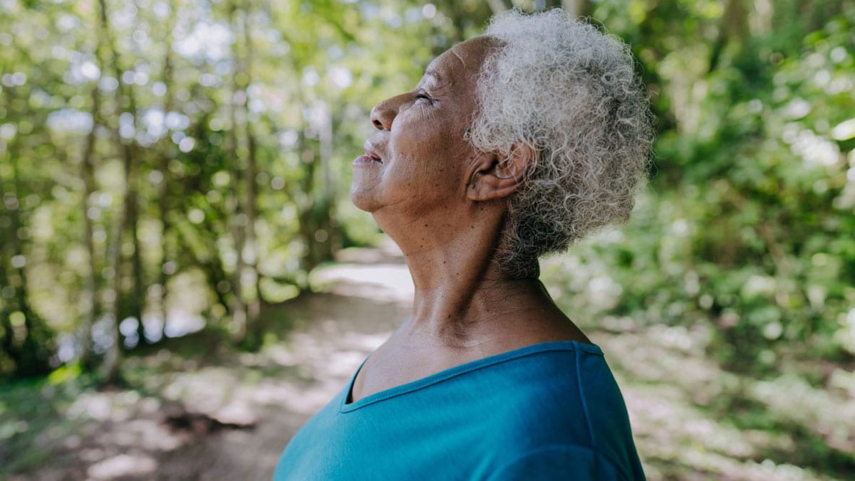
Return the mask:
M368 143L382 163L354 164L351 199L398 243L416 294L413 315L363 365L351 400L534 343L588 342L538 279L510 278L494 259L518 181L463 132L495 46L487 37L455 45L416 88L372 110Z

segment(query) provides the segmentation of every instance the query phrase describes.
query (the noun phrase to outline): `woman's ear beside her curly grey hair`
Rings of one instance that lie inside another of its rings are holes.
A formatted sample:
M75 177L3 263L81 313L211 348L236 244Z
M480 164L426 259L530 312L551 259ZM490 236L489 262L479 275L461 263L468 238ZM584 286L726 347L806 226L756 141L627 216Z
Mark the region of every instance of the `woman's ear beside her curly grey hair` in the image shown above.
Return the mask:
M513 144L509 153L485 153L476 162L466 196L473 201L508 197L522 185L537 163L537 151L528 144Z

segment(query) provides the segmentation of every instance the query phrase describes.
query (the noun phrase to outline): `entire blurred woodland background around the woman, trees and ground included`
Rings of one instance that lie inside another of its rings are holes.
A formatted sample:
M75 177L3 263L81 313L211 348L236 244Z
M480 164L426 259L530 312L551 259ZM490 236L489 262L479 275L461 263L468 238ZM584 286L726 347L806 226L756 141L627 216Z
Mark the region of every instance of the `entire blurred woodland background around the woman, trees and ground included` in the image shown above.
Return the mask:
M269 478L409 308L370 107L561 3L657 115L634 220L542 261L649 477L855 476L852 0L0 0L0 478Z

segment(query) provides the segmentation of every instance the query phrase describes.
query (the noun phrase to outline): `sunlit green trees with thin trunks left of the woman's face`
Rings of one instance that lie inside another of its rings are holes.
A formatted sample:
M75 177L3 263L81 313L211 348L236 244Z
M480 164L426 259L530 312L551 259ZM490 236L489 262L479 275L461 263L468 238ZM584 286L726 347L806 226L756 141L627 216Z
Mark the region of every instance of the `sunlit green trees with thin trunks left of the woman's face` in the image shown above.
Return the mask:
M391 1L2 4L0 378L260 338L262 302L376 236L342 202L370 107L471 28Z

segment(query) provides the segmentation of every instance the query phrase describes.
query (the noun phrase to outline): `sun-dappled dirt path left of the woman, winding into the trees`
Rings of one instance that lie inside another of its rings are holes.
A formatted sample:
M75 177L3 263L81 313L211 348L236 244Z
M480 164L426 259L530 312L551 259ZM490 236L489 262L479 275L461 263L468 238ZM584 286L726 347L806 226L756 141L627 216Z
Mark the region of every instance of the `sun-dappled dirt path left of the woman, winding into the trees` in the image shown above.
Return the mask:
M398 257L370 250L342 260L315 273L328 292L265 313L281 337L257 354L205 349L200 338L199 355L127 359L142 389L89 390L56 406L67 421L39 446L51 455L10 479L270 479L288 440L408 313Z

